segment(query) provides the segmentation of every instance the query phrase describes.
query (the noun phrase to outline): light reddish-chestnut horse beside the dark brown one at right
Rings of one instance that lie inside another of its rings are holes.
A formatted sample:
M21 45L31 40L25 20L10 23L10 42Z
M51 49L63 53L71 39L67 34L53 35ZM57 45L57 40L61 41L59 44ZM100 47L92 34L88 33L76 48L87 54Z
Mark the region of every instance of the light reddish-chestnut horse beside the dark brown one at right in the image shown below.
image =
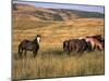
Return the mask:
M92 43L92 49L95 50L95 49L99 49L99 50L104 50L104 44L95 39L95 38L84 38L86 40L86 42L90 42Z

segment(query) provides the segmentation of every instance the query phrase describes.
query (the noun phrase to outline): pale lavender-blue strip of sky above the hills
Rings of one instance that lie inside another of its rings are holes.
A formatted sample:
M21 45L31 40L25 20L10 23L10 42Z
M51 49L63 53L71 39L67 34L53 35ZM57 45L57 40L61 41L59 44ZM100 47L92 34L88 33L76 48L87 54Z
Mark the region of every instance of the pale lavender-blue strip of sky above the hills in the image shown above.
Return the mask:
M105 6L102 5L53 3L53 2L37 2L37 1L13 1L13 3L29 4L36 8L77 10L77 11L97 12L105 14Z

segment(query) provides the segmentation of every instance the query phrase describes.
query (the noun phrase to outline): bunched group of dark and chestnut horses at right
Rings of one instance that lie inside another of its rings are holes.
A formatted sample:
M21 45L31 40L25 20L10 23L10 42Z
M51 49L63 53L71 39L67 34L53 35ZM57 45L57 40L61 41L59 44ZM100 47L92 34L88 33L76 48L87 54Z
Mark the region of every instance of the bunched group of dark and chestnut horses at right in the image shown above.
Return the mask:
M82 37L78 39L69 39L63 42L63 50L70 54L80 53L82 54L85 51L104 51L105 49L105 39L101 38L101 35Z

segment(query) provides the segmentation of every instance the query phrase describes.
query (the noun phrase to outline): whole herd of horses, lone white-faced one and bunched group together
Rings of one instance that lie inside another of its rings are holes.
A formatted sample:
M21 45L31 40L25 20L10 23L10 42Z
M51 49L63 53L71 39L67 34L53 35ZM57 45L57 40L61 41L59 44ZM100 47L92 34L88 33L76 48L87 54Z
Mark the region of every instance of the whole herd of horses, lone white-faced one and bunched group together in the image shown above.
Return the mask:
M41 36L37 35L33 41L27 39L23 40L19 44L19 55L26 57L27 51L33 52L33 56L36 57L39 50L39 42ZM69 39L63 41L63 51L70 54L73 53L83 53L85 51L94 51L95 49L104 51L105 49L105 39L101 38L101 35L82 37L78 39Z

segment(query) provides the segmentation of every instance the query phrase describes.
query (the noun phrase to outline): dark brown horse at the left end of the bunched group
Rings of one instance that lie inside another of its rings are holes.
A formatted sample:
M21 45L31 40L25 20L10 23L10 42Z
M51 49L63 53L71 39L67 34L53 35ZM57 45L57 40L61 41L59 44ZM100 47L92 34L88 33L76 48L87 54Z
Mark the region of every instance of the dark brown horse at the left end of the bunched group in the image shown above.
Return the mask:
M72 39L63 42L63 50L69 54L71 52L83 53L88 49L88 44L84 39Z

